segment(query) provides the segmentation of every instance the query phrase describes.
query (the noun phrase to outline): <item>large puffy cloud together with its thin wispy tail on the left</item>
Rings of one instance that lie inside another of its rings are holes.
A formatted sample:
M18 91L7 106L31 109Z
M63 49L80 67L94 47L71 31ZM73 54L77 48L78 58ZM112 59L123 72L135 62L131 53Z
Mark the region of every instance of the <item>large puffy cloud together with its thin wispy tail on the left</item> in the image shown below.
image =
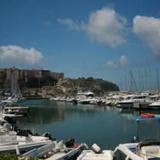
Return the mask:
M105 7L92 12L86 23L76 22L70 18L58 21L69 29L86 32L91 39L109 47L115 47L125 42L123 31L127 20L112 8Z

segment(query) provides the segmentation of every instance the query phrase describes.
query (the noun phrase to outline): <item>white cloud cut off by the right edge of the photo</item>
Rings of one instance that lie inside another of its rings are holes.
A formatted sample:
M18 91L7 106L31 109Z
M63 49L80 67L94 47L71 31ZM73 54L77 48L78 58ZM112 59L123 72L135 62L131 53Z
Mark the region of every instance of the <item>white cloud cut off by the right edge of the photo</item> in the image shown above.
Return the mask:
M133 19L133 31L160 55L160 18L136 16Z

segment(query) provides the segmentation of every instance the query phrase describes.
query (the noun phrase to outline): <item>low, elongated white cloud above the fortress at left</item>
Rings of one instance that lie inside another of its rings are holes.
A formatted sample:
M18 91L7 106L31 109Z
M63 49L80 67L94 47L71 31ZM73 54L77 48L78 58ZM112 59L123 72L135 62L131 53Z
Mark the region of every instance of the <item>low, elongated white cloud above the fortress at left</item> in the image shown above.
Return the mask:
M40 51L35 48L22 48L20 46L0 46L0 62L12 64L35 64L43 58Z

